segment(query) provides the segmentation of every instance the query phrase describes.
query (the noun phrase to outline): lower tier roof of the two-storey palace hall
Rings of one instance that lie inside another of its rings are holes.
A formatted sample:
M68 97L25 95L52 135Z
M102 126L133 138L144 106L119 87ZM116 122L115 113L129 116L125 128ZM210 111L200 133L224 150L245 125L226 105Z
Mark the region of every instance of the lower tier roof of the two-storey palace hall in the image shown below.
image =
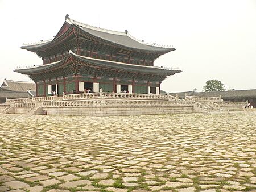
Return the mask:
M115 61L108 61L108 60L101 60L95 59L92 57L85 57L76 55L72 51L69 51L68 55L64 57L63 60L53 62L51 64L45 65L37 65L32 66L30 68L19 68L15 69L15 72L22 73L22 74L36 74L41 72L47 72L49 70L59 69L64 65L67 65L69 60L76 60L78 63L86 62L91 67L94 68L105 68L105 69L112 69L112 70L122 70L134 73L147 73L147 74L154 74L154 75L165 75L170 76L171 74L180 73L181 70L175 68L160 68L157 66L145 66L145 65L134 65L134 64L125 64L123 62L115 62Z

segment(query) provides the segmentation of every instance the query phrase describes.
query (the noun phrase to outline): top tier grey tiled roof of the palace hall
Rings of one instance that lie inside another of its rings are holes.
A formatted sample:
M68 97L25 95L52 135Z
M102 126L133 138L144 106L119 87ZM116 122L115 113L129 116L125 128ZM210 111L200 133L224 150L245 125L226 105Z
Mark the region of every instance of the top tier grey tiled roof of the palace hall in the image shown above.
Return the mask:
M76 20L70 19L68 15L66 16L63 27L61 27L55 38L47 41L41 41L39 43L27 45L23 44L21 48L28 49L29 51L31 51L31 49L40 49L41 47L45 48L47 47L47 45L52 45L57 42L59 39L61 39L61 37L67 36L67 34L65 33L72 33L73 30L69 30L72 27L75 27L75 29L78 31L81 30L90 37L97 38L98 40L102 40L109 44L119 45L123 48L131 48L138 51L150 51L156 53L167 53L175 50L172 47L163 47L155 44L144 43L143 41L137 40L133 36L131 36L127 30L125 32L118 32L89 26L88 24L84 24L81 22L77 22Z

